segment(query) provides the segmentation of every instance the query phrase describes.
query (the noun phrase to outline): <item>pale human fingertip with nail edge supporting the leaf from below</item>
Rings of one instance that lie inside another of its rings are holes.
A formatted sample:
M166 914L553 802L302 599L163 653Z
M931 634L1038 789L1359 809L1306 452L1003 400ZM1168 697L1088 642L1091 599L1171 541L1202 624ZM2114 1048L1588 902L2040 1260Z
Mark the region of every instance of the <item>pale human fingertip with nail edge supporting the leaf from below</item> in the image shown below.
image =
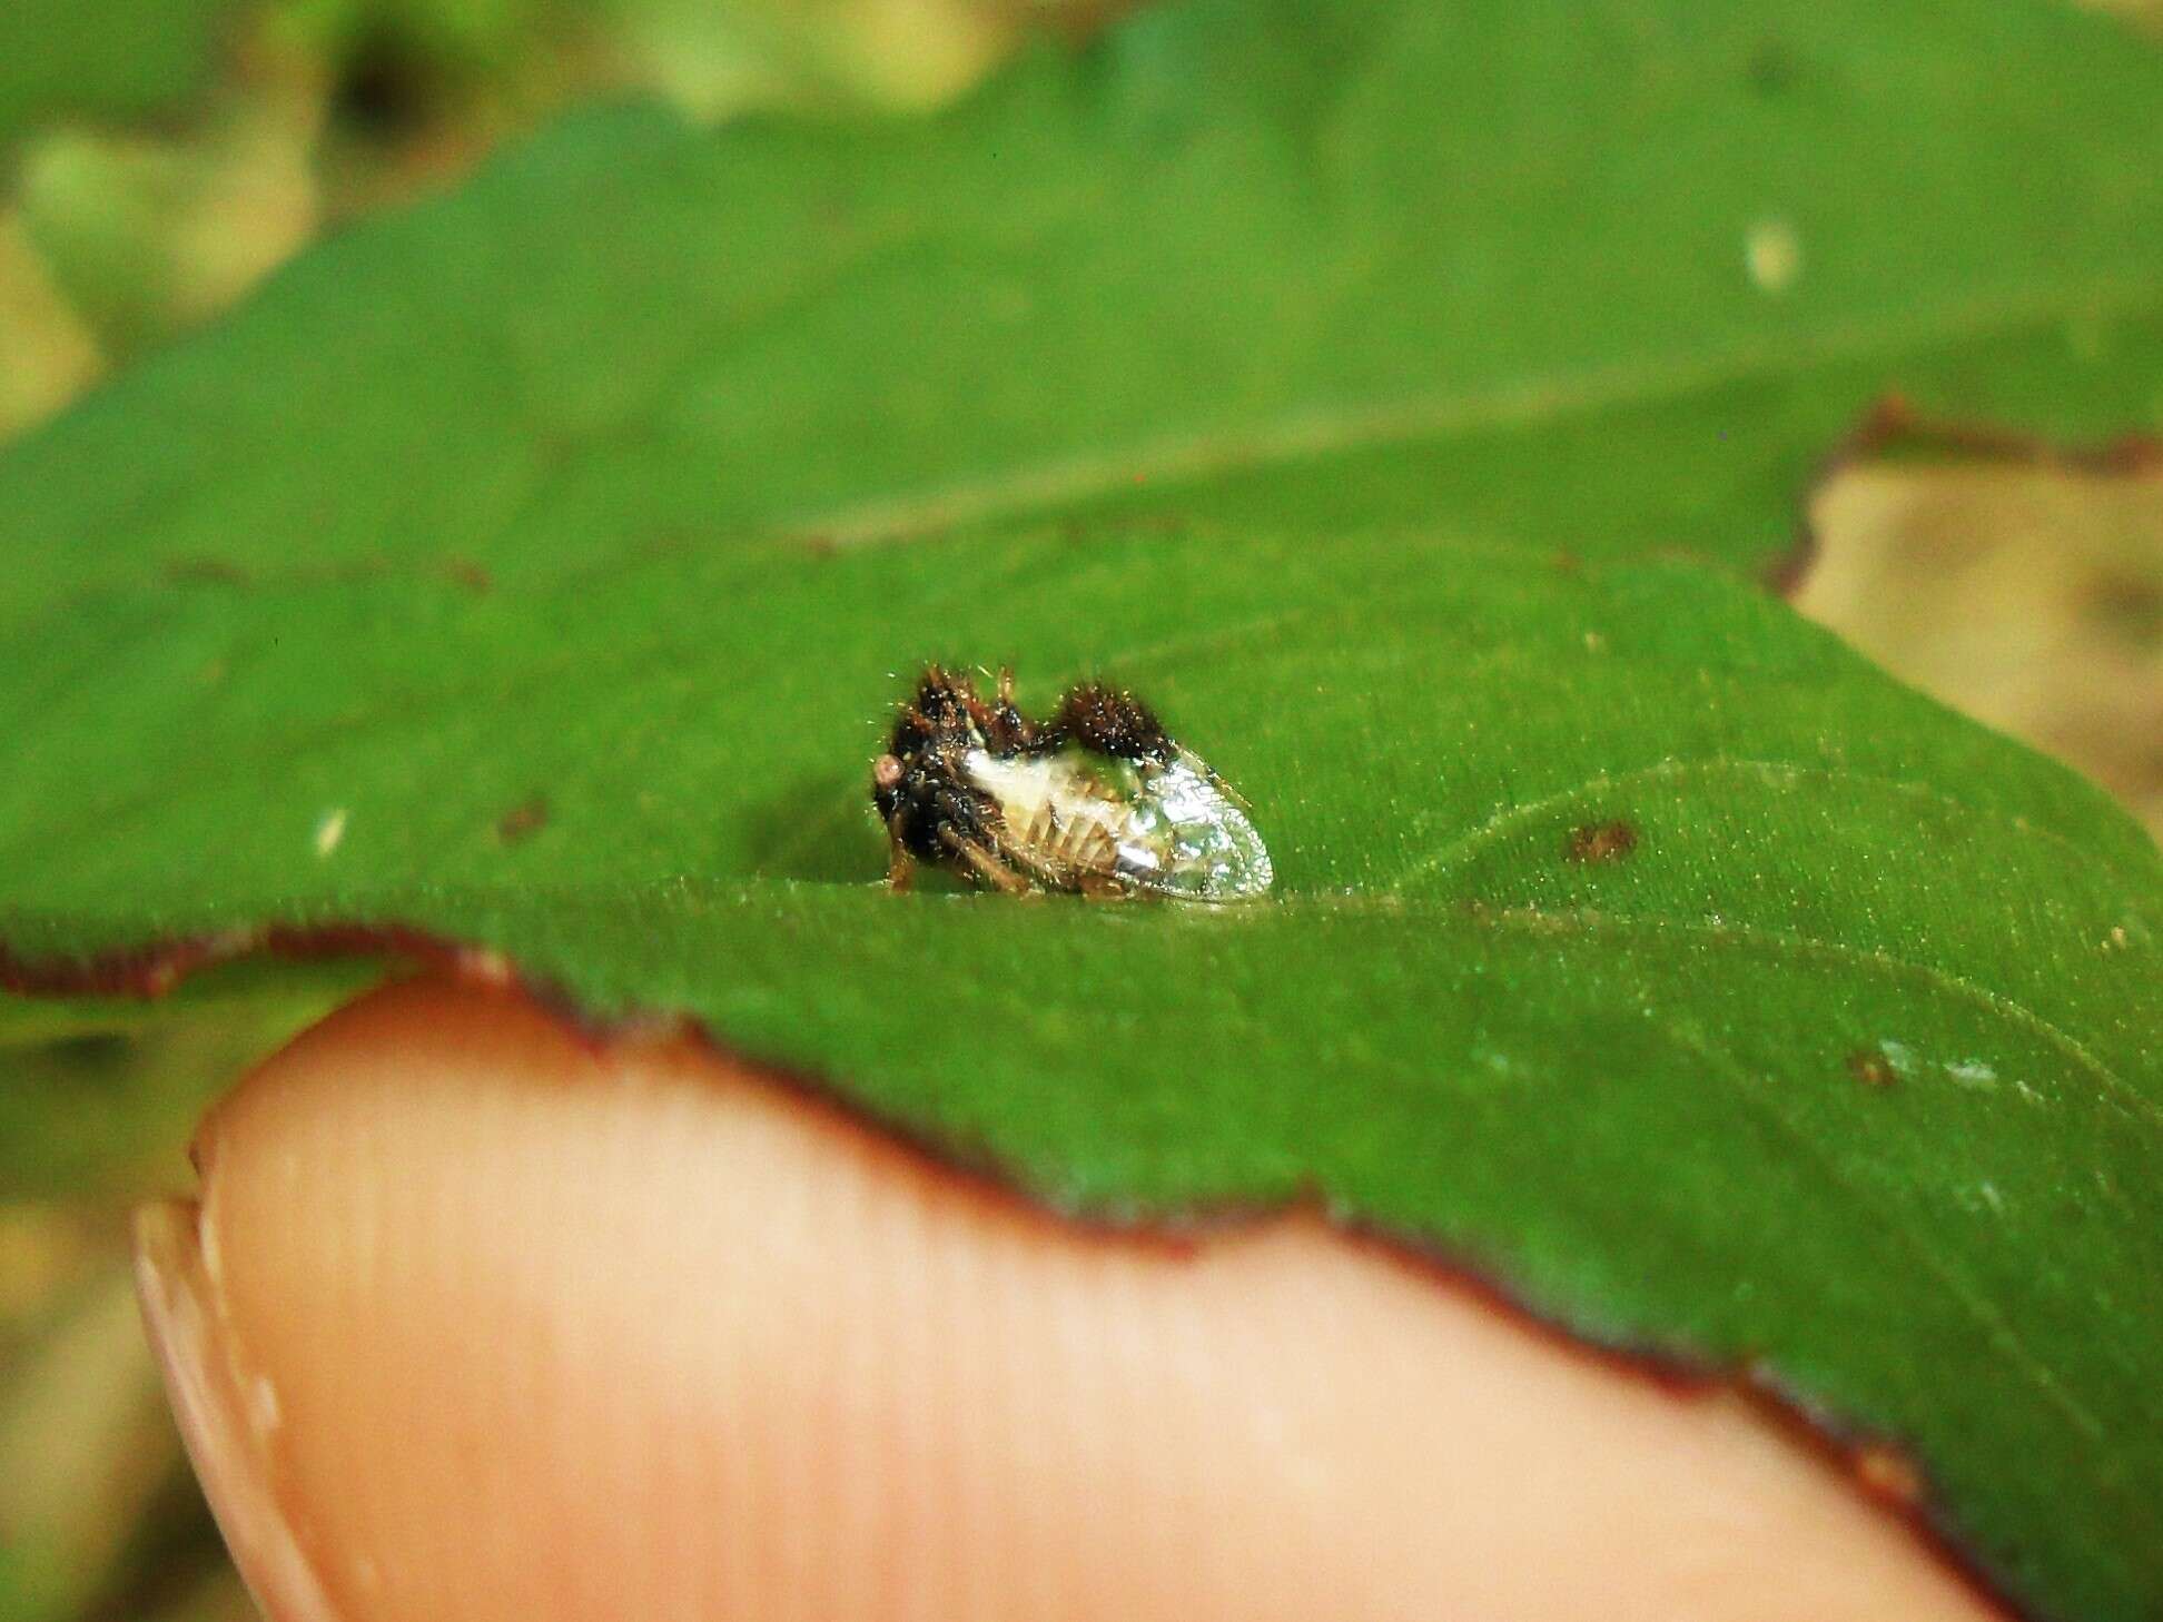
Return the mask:
M277 1622L1988 1609L1743 1404L1296 1218L1086 1233L690 1040L333 1016L138 1224Z

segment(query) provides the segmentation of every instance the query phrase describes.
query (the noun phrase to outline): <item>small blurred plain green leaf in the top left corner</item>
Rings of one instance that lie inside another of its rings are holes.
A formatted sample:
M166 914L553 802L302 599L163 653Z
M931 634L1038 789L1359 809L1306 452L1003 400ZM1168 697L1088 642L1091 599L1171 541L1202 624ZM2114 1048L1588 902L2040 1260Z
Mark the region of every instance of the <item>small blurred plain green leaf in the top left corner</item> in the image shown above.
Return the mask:
M190 95L227 0L6 0L0 154L52 119L136 119Z

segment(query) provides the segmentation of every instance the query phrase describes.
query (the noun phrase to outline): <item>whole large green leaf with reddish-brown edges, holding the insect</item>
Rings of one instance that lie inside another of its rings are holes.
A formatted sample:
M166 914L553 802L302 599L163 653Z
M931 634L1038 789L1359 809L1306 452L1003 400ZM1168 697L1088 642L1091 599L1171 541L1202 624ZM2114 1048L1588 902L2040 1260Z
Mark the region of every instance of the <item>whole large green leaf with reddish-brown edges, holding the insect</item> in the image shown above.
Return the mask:
M567 123L0 461L0 941L417 930L1066 1209L1317 1198L2146 1616L2163 859L1737 575L1886 387L2163 417L2159 119L2053 6L1467 0ZM1276 898L885 893L926 657L1133 683Z

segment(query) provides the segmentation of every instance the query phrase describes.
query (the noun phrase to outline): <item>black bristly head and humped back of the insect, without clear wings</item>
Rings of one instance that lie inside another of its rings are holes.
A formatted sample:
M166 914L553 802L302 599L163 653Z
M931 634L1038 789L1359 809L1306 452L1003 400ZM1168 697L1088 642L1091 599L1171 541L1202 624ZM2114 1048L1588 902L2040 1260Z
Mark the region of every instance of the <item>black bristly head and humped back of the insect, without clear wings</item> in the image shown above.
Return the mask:
M872 805L900 856L952 867L971 882L1025 887L1017 867L1019 830L1004 824L999 802L971 783L963 761L988 755L1004 761L1040 759L1077 746L1123 761L1170 761L1179 746L1151 709L1127 692L1099 683L1071 688L1049 720L1030 720L1012 701L1012 677L1001 673L993 699L967 675L928 666L900 707L887 755L878 761ZM1040 880L1040 863L1034 867ZM895 867L902 880L904 863Z

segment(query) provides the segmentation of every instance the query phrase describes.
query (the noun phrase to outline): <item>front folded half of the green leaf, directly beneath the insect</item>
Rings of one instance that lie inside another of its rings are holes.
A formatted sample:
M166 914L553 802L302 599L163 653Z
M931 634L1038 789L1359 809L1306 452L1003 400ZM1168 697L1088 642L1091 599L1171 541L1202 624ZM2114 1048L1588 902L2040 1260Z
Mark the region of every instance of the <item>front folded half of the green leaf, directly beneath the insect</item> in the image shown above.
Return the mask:
M1064 1207L1313 1192L1912 1447L2016 1594L2154 1592L2157 854L1743 586L1103 526L123 610L0 824L26 958L482 941ZM928 651L1136 683L1280 900L887 895L863 766Z

